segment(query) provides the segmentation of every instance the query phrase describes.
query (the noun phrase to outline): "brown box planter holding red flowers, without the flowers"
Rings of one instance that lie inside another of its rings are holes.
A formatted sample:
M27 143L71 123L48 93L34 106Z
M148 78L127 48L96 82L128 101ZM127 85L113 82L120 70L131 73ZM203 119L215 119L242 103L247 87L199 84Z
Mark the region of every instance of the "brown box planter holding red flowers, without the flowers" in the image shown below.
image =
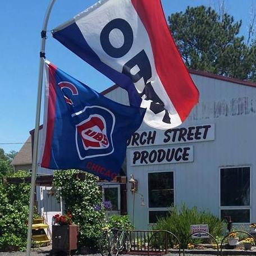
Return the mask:
M52 225L52 251L70 252L77 249L76 225Z

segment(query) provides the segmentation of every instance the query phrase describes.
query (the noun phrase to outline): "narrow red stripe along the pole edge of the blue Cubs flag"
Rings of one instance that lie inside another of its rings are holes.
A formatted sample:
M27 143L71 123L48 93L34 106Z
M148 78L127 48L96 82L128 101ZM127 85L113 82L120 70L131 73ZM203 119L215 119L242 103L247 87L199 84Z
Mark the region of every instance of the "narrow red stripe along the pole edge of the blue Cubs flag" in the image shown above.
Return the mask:
M49 79L49 98L48 98L48 109L47 109L47 130L46 130L46 139L44 146L44 154L42 158L41 166L49 168L51 161L51 151L52 151L52 136L54 129L54 120L55 120L55 109L56 109L56 92L54 90L56 86L55 72L57 67L48 64L48 79Z

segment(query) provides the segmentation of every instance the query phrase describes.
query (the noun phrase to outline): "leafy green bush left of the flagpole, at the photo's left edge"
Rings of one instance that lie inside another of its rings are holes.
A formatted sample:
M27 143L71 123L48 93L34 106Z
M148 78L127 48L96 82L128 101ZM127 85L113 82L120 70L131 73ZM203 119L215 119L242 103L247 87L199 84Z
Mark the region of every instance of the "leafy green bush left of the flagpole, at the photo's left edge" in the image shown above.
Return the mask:
M9 177L28 177L18 171ZM0 248L25 250L28 232L29 184L0 184Z

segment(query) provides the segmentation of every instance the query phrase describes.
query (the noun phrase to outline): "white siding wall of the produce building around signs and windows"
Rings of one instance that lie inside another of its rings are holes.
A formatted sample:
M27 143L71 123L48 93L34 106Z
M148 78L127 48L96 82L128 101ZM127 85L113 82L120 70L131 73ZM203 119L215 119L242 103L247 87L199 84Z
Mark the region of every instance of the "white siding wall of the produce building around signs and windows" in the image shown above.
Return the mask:
M220 216L220 167L250 166L252 219L256 222L256 88L192 75L200 92L199 104L182 126L215 125L215 140L189 143L194 146L194 162L131 166L130 150L127 149L127 177L130 174L139 182L139 193L146 205L140 205L135 195L135 226L148 228L148 172L173 171L175 204L186 203L209 209ZM117 88L106 95L108 98L128 104L127 93ZM150 130L141 125L139 130ZM184 145L184 144L183 144ZM188 145L188 144L185 144ZM176 146L176 145L175 145ZM179 144L177 144L179 146ZM147 149L154 148L148 146ZM163 145L167 147L167 145ZM141 149L141 148L139 148ZM131 192L127 191L128 212L132 218Z

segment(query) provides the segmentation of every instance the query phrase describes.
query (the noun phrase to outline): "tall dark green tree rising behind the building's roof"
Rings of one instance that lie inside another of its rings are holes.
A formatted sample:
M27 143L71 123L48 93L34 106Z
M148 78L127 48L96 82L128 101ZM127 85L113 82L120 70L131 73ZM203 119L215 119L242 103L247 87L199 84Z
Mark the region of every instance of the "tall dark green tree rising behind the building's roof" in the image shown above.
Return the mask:
M173 39L186 66L195 70L256 80L256 43L239 35L242 21L211 7L189 7L168 17Z

